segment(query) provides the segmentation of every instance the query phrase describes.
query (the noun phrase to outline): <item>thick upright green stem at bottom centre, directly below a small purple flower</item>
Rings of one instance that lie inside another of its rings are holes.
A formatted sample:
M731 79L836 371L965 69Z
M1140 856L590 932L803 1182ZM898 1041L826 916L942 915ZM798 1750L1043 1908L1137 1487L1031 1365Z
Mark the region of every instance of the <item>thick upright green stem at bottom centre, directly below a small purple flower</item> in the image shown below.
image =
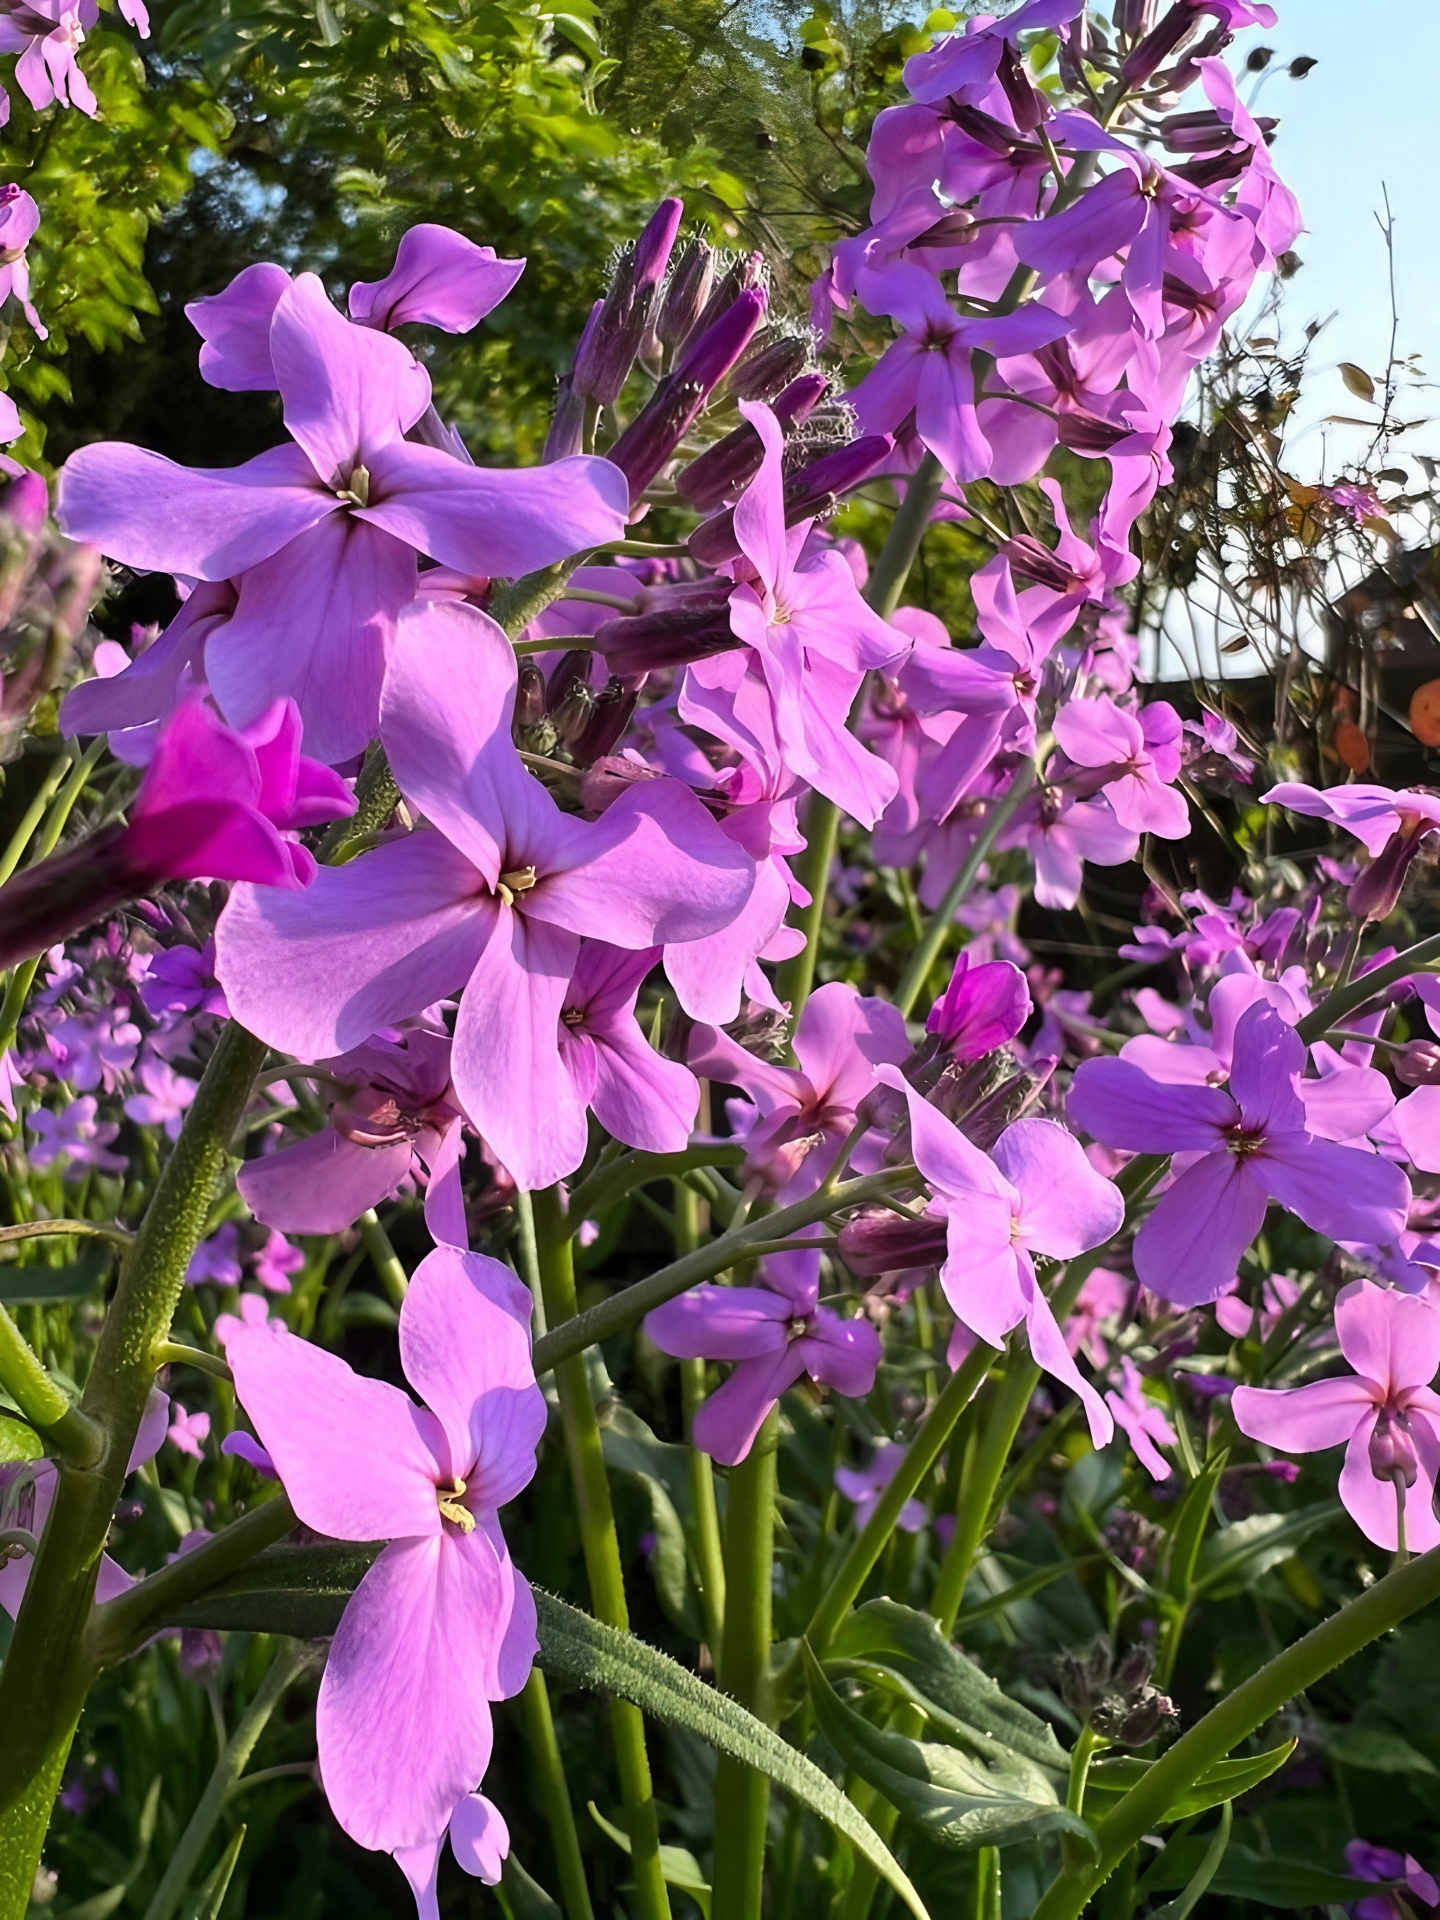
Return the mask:
M720 1688L772 1724L770 1599L776 1538L780 1407L766 1413L730 1473L726 1505L726 1632ZM714 1774L712 1920L760 1920L770 1776L722 1753Z

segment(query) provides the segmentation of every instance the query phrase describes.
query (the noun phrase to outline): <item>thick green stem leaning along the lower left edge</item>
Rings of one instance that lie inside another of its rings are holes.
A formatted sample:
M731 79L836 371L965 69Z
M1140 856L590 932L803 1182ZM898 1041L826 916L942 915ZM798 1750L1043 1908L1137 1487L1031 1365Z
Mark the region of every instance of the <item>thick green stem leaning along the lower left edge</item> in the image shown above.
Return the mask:
M234 1021L221 1035L140 1231L121 1263L81 1411L104 1436L94 1465L61 1461L50 1519L0 1674L0 1809L67 1745L94 1678L84 1647L100 1555L169 1336L190 1256L227 1169L265 1046ZM0 1862L4 1876L4 1862Z

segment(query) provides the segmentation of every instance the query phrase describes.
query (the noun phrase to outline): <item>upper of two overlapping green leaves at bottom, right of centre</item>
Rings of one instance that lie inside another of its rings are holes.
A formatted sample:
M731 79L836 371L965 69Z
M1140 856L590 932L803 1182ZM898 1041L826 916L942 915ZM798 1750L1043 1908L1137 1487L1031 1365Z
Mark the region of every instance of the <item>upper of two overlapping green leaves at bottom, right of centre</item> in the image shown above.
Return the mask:
M1020 1753L1050 1772L1066 1774L1069 1755L1054 1730L1010 1699L991 1676L950 1645L927 1613L895 1599L856 1607L826 1649L826 1667L864 1672L918 1707L937 1730L985 1759Z

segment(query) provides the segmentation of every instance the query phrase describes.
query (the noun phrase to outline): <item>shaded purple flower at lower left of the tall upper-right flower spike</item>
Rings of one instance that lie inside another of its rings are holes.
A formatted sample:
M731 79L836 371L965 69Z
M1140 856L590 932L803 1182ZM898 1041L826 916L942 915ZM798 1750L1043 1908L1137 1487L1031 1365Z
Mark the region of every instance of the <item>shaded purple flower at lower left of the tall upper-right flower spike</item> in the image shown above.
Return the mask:
M1069 319L1048 307L960 315L935 275L908 259L864 269L858 286L872 313L904 328L849 396L860 424L868 434L893 434L914 413L920 440L952 480L983 478L993 449L975 411L972 355L1031 353L1069 332Z

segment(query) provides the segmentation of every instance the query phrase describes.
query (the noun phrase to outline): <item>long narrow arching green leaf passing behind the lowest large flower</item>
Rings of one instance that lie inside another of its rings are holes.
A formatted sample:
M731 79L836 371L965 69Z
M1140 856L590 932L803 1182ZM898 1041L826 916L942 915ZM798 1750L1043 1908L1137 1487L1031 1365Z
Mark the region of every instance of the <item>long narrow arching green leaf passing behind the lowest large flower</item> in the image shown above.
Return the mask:
M215 1626L324 1640L378 1555L376 1546L313 1542L267 1548L200 1599L175 1607L157 1626ZM920 1895L883 1839L835 1782L733 1699L685 1672L655 1647L591 1620L536 1588L540 1667L555 1680L634 1701L720 1753L764 1772L781 1791L828 1820L900 1895L916 1920L929 1920Z

